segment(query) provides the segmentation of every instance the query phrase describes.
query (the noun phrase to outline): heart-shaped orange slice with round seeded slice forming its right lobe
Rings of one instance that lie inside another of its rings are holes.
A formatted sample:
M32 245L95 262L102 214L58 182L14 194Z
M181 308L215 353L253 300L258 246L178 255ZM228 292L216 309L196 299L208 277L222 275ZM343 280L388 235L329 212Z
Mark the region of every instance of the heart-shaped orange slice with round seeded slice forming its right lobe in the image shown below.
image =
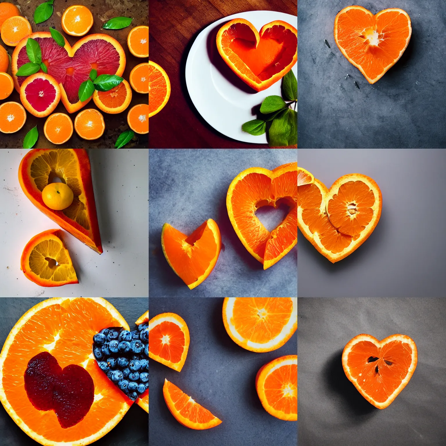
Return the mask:
M380 188L361 173L338 178L330 189L318 179L297 186L297 226L332 263L367 240L378 224L381 208Z

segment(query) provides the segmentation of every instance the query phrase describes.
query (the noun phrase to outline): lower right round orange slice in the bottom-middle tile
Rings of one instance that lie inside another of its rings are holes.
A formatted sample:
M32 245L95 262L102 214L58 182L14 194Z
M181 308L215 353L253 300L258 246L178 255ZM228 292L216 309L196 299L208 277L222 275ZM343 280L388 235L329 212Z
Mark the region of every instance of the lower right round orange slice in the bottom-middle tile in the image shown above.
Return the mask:
M281 356L257 372L256 390L273 417L297 421L297 355Z

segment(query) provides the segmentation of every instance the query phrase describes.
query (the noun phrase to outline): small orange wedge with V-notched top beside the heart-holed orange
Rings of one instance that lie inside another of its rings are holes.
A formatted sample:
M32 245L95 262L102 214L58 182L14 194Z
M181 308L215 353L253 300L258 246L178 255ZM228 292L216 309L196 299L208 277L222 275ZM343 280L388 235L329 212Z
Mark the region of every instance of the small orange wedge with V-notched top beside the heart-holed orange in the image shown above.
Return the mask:
M189 289L200 285L211 274L221 249L220 230L213 219L206 220L187 236L169 223L161 231L164 256Z

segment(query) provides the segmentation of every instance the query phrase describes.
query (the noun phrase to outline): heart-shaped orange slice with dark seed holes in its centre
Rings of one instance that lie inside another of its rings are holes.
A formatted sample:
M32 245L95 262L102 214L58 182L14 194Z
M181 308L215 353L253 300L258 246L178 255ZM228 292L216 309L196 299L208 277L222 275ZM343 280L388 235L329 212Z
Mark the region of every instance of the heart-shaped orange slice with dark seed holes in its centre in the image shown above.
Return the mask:
M417 367L417 346L406 335L378 341L358 335L347 343L342 366L359 393L378 409L385 409L405 388Z

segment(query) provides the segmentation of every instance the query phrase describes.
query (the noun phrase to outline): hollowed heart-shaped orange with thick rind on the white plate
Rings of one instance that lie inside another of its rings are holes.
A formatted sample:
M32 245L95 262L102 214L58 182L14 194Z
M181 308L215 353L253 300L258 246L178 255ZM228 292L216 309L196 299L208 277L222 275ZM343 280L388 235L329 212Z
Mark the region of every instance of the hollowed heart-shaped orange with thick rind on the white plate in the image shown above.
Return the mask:
M251 22L233 19L219 29L216 41L223 60L256 91L273 85L297 62L297 29L281 20L259 33Z

